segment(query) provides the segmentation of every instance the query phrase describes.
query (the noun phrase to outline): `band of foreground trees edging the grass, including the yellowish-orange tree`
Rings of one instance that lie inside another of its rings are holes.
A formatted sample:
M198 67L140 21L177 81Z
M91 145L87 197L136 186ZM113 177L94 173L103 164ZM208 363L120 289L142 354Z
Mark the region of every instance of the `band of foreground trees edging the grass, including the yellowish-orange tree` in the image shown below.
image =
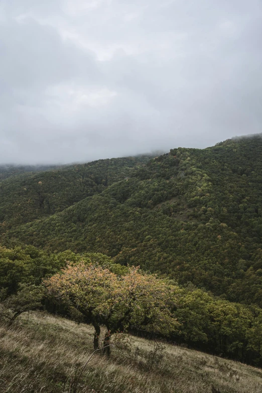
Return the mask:
M262 312L256 305L229 302L192 283L178 286L173 280L114 264L101 253L2 247L0 269L0 314L9 320L45 307L76 322L93 323L95 345L100 327L106 326L110 335L124 330L149 337L154 333L262 365ZM12 277L15 280L9 280Z

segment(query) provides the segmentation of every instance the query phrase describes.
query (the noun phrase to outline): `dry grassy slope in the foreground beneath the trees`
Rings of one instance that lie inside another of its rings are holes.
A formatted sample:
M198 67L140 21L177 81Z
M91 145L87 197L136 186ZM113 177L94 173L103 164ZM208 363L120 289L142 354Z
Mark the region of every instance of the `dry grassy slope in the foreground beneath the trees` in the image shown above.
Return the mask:
M2 393L260 393L260 369L129 336L109 360L92 351L88 325L33 313L0 327ZM80 378L76 384L78 376ZM74 390L75 389L75 390Z

